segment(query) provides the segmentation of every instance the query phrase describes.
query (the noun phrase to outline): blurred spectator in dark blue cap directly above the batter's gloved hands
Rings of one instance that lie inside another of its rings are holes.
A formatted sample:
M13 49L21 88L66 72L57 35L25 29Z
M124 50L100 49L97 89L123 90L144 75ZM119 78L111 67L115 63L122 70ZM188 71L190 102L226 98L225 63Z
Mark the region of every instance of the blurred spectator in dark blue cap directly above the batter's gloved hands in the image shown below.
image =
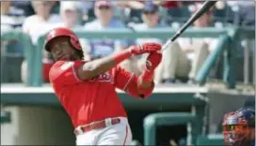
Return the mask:
M137 23L131 25L131 27L135 31L146 31L146 30L152 30L157 28L164 28L167 27L167 24L160 22L160 16L159 16L159 7L154 5L153 3L146 3L145 6L142 9L142 23ZM163 40L160 40L158 38L137 38L136 44L143 44L146 42L157 42L157 43L163 43ZM123 66L126 70L135 72L136 75L140 74L143 68L143 65L145 63L146 56L143 55L139 58L134 57L130 58L129 60L126 60L120 64L120 66ZM157 72L157 69L156 69ZM158 78L155 74L155 78Z

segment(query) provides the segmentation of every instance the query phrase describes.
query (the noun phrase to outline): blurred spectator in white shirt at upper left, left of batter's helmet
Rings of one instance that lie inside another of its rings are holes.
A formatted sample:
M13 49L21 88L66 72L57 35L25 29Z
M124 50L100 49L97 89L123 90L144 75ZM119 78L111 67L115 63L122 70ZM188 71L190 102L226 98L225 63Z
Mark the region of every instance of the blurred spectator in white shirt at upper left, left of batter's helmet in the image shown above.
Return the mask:
M36 12L35 15L26 18L23 31L27 33L32 38L34 44L37 43L38 38L49 30L56 26L56 23L61 22L59 15L51 14L50 11L56 2L50 1L31 1L32 6ZM49 70L54 64L53 57L50 53L43 51L42 58L43 68L42 68L42 79L44 81L49 81ZM26 61L22 65L22 80L26 80Z

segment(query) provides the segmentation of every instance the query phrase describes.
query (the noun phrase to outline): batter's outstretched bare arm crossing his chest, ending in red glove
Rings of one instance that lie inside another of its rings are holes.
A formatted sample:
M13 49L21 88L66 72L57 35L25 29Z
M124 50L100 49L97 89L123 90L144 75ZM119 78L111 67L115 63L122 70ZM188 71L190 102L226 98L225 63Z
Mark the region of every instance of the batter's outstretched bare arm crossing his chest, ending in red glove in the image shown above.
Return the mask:
M132 55L139 55L146 52L151 53L159 51L160 49L161 45L157 43L145 43L141 46L132 46L125 51L120 51L104 58L88 62L83 66L79 66L75 71L80 80L90 80L110 70L114 66L117 66L120 62L128 59Z

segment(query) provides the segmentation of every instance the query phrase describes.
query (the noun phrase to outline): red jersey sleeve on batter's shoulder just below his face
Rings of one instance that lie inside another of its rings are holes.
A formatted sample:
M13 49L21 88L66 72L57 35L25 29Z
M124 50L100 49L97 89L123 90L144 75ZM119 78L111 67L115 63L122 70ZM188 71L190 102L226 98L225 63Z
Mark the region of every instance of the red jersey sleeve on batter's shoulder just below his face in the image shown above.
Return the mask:
M82 66L84 63L81 61L58 61L50 70L50 81L56 85L71 85L82 82L77 77L75 69Z

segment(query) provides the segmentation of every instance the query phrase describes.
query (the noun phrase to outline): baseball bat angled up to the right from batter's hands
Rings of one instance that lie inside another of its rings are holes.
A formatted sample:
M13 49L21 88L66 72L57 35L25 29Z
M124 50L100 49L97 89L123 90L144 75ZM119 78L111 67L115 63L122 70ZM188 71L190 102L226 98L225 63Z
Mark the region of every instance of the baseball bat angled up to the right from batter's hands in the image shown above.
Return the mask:
M164 46L162 47L162 51L166 50L168 48L168 46L174 41L176 40L177 37L181 36L185 29L191 25L193 22L195 22L198 18L200 18L200 16L205 13L207 10L209 10L211 7L213 7L216 4L216 1L205 1L202 5L202 7L200 7L199 10L196 11L196 13L194 15L192 15L190 17L190 19L184 23L184 26L178 30L176 32L176 34L174 36L172 36L170 39L168 39L168 41L164 44Z

